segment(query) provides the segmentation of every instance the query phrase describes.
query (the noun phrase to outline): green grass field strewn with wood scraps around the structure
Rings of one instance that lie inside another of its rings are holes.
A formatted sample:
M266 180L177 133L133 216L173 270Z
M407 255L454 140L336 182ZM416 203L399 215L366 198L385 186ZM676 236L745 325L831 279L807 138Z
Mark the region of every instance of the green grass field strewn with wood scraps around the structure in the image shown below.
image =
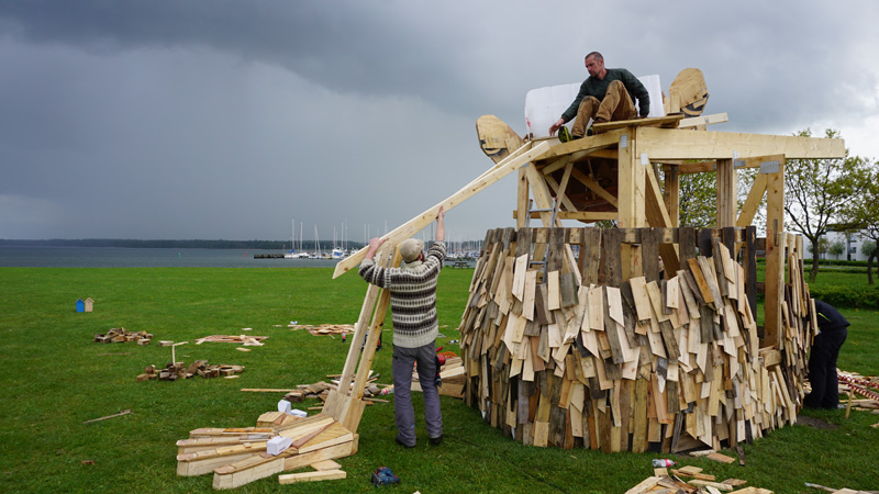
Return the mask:
M276 409L282 393L242 388L293 388L341 371L348 343L291 330L287 324L352 324L366 284L331 269L62 269L0 268L0 492L211 492L212 475L176 475L178 439L199 427L247 427ZM819 276L822 281L824 273ZM439 281L439 345L455 329L472 270L446 269ZM834 283L845 282L835 273ZM863 276L849 280L866 283ZM842 280L842 281L841 281ZM76 313L92 297L93 313ZM843 310L852 321L839 367L879 374L879 308ZM113 327L153 333L154 343L101 345L97 333ZM232 344L193 340L216 334L268 336L249 352ZM158 340L190 341L177 360L245 366L238 379L136 382L149 364L164 367L170 348ZM378 382L390 383L391 335L376 356ZM305 405L314 405L307 402ZM301 405L301 404L299 404ZM421 414L415 394L416 414ZM129 415L85 420L130 408ZM525 447L485 424L478 411L443 397L446 440L426 441L419 415L416 448L394 441L390 403L368 406L359 451L340 460L346 480L279 485L277 475L238 492L372 492L369 474L390 467L402 479L396 492L412 493L623 493L653 472L659 453L607 454L591 450ZM833 487L879 489L879 415L811 412L835 428L786 427L744 445L747 465L671 456L717 480L744 479L776 493L817 493L804 482ZM733 454L725 451L727 454ZM93 462L93 463L91 463Z

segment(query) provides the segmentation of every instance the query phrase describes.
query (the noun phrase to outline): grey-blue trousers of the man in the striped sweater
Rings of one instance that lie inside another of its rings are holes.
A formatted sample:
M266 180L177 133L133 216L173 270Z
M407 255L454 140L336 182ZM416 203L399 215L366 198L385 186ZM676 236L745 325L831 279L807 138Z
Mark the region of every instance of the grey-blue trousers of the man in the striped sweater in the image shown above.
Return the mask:
M393 346L393 414L397 439L405 446L415 445L415 411L412 407L412 367L418 364L419 382L424 395L424 420L427 435L443 435L443 412L439 409L439 391L436 389L436 344L419 348Z

